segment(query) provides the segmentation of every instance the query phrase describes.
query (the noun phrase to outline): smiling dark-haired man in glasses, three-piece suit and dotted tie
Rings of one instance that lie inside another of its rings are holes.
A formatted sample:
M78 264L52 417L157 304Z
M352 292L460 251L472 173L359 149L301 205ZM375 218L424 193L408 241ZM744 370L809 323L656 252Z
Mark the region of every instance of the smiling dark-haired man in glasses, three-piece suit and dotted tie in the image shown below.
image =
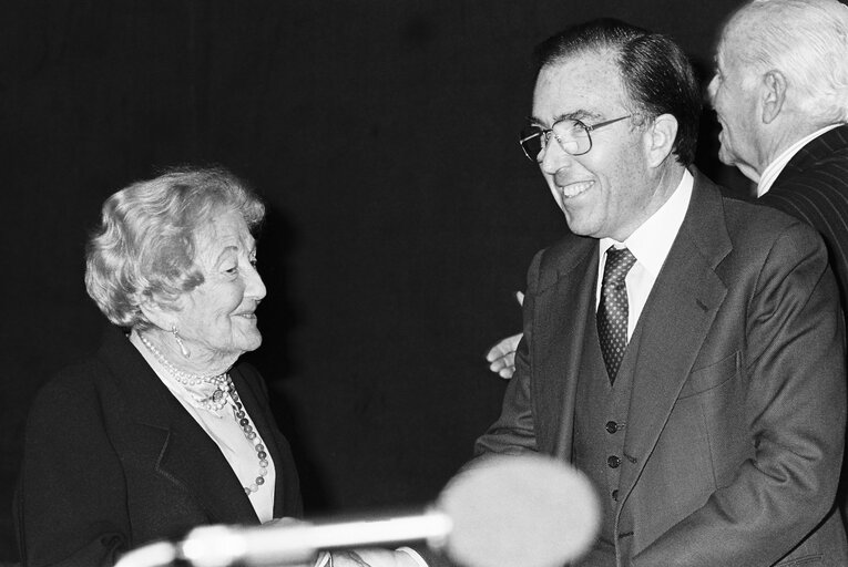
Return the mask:
M537 55L520 142L573 234L531 264L477 458L585 473L603 512L580 566L848 565L845 344L820 237L691 167L701 95L667 38L600 20Z

